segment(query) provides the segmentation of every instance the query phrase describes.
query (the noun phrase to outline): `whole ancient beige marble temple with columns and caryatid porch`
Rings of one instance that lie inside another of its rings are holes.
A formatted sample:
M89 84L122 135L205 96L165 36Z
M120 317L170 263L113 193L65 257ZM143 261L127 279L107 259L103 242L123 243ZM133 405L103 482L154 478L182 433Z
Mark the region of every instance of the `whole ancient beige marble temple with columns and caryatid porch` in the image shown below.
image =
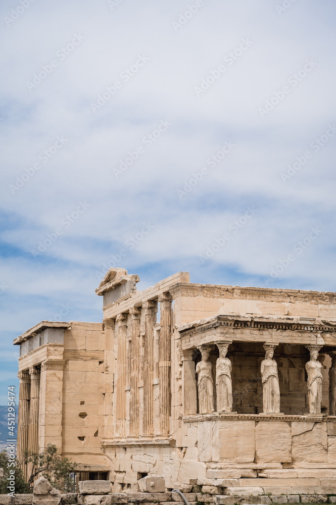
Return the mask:
M19 457L56 443L115 491L160 475L168 489L335 493L336 294L138 280L107 272L103 323L15 339Z

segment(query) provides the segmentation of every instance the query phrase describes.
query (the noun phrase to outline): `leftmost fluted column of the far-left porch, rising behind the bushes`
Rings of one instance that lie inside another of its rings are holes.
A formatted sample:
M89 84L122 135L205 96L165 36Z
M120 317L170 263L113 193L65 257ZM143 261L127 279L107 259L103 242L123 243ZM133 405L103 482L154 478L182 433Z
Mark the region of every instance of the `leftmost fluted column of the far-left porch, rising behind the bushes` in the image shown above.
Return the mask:
M29 400L30 400L30 375L28 370L19 372L20 379L19 389L19 416L18 416L18 444L17 457L19 463L22 462L24 452L28 448L28 428L29 428ZM22 470L27 476L26 466Z

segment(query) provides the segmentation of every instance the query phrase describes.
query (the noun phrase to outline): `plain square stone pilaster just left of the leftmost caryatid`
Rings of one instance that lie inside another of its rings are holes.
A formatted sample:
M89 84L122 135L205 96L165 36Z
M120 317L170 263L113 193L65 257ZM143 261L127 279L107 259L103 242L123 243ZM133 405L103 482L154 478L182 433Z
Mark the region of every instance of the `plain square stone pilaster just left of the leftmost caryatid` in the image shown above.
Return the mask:
M182 411L183 416L197 414L197 383L193 349L182 351Z

